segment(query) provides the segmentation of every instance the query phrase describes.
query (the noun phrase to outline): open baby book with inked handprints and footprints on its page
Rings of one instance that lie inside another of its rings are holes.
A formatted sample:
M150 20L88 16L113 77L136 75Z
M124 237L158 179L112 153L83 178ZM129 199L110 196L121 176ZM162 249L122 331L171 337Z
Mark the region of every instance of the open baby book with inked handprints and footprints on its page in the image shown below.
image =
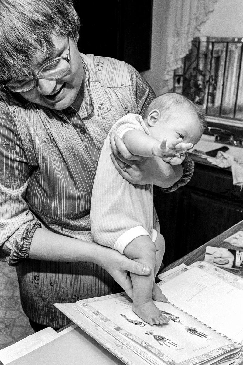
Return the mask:
M243 283L211 266L186 266L158 283L168 303L154 303L168 324L141 320L125 293L55 306L128 365L241 364Z

